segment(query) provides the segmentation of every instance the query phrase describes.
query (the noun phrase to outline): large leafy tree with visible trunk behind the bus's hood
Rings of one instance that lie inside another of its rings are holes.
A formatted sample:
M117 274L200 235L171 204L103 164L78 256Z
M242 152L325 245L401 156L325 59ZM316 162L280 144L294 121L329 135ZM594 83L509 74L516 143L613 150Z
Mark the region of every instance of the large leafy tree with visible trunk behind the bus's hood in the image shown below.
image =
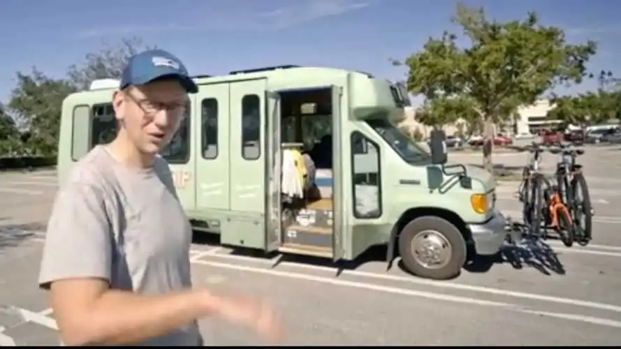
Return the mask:
M404 61L408 89L430 99L463 96L473 101L485 126L483 165L491 170L495 123L519 105L534 103L555 84L581 82L596 45L568 44L562 29L539 24L536 13L497 22L488 20L482 8L458 3L453 22L462 27L469 45L458 45L458 36L448 32L430 38L421 52Z

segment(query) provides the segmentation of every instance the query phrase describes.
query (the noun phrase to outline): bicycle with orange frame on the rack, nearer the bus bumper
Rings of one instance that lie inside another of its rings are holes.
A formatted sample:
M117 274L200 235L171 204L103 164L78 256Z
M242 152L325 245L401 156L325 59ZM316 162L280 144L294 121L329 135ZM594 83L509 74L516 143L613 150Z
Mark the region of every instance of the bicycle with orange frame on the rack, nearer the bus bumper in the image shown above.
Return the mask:
M532 156L523 170L518 189L524 223L528 228L526 235L546 239L548 229L552 228L565 246L572 246L575 235L569 209L562 202L557 186L553 186L539 170L544 149L533 143L528 150Z

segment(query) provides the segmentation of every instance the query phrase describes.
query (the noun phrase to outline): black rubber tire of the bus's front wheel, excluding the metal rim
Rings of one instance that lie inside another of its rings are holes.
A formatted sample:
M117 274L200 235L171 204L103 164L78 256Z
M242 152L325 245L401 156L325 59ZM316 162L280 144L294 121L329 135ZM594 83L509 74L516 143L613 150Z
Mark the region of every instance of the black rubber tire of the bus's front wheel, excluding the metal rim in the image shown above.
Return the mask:
M451 246L451 258L446 265L437 269L426 267L416 258L411 248L414 238L432 230L439 233ZM422 216L407 223L399 235L399 254L404 267L416 276L425 279L446 280L458 276L467 258L467 244L460 232L451 222L437 216Z

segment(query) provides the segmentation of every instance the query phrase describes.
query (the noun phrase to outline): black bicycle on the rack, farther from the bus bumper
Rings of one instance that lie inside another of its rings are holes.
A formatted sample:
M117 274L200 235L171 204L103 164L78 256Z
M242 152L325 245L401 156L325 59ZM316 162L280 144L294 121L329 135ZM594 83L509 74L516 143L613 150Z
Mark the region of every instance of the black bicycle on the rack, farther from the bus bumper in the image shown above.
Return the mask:
M584 152L584 149L574 148L571 145L560 145L556 149L550 149L550 153L559 155L555 177L560 198L569 209L576 242L580 246L587 246L592 239L593 219L587 181L582 172L582 165L576 163L576 158Z

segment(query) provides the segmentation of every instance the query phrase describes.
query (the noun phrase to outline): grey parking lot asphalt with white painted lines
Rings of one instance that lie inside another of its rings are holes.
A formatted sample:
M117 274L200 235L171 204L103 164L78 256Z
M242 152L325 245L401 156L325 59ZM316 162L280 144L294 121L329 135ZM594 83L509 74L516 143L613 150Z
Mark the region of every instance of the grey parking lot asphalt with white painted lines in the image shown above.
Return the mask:
M282 316L289 345L606 346L621 343L621 149L587 147L585 166L596 216L594 240L550 251L523 249L521 260L468 265L451 281L386 270L374 248L338 269L325 260L261 257L197 235L193 279L221 291L267 297ZM525 153L495 163L523 165ZM481 155L451 161L480 163ZM553 156L544 168L553 168ZM36 288L54 172L0 174L0 346L56 346L45 294ZM516 183L498 186L497 205L519 218ZM202 320L207 346L261 345L247 329Z

